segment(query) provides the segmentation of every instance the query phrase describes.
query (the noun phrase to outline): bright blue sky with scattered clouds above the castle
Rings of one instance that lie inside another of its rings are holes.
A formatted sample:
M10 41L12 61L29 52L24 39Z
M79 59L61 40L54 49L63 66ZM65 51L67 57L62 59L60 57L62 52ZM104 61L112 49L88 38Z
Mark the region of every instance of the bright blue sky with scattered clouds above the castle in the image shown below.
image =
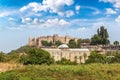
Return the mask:
M42 35L90 38L100 26L120 41L120 0L0 0L0 51Z

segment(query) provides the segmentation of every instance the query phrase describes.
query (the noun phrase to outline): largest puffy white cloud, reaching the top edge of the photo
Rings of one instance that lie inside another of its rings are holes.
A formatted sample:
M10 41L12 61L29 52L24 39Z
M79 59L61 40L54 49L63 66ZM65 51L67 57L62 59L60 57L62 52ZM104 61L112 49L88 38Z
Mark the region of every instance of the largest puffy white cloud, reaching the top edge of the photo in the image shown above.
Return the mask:
M26 6L20 8L20 12L32 11L41 12L49 11L50 13L57 13L60 16L65 15L64 6L71 6L74 0L43 0L42 3L31 2Z

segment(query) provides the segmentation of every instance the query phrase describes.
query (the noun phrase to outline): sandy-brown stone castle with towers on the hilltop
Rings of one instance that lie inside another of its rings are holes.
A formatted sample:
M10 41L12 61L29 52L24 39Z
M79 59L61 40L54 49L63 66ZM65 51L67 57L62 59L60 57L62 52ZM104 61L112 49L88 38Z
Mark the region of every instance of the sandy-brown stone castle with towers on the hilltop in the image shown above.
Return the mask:
M41 41L48 41L52 42L53 44L56 41L61 41L62 43L68 44L70 39L75 39L75 41L78 40L78 38L71 38L70 36L59 36L58 34L54 34L53 36L41 36L38 38L29 38L29 46L37 46L37 47L42 47Z

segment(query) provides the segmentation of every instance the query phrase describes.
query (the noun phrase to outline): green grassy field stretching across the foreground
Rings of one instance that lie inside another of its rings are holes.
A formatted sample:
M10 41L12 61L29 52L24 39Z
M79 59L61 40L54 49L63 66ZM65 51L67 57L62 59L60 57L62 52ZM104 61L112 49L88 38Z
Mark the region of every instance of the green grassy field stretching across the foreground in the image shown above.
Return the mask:
M10 79L9 77L14 79ZM6 78L6 79L5 79ZM7 79L8 78L8 79ZM28 65L0 74L1 80L120 80L120 64Z

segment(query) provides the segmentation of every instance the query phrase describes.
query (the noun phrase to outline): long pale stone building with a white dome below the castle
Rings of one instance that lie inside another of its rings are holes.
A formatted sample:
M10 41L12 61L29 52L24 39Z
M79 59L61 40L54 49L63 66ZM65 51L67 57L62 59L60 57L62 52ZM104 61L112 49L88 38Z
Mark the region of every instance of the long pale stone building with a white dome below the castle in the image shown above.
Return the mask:
M90 55L90 51L87 48L69 48L66 44L58 46L58 48L43 48L48 51L55 61L60 61L62 58L66 58L70 61L77 61L77 63L84 63Z

